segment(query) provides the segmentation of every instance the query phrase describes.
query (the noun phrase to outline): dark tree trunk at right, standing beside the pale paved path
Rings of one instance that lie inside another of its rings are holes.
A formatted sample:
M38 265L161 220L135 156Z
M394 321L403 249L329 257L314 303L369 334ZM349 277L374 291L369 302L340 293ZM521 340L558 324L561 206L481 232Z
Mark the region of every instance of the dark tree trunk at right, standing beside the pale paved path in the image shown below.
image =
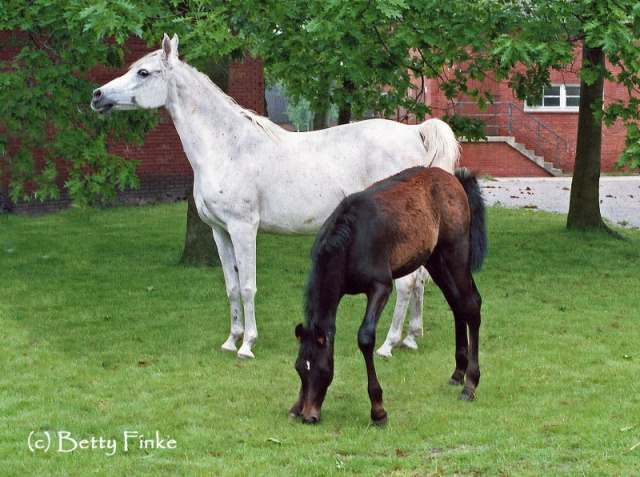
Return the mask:
M602 107L605 56L602 48L582 47L582 69L597 71L592 84L580 82L580 111L576 161L571 181L567 228L610 231L600 214L600 154L602 116L594 111Z

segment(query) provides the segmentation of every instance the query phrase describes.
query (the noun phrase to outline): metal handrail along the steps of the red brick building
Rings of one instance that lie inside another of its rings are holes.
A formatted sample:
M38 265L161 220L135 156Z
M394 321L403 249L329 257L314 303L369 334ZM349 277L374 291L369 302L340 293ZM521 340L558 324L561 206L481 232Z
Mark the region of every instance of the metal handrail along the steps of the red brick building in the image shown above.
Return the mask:
M467 107L474 110L465 111ZM453 111L458 116L482 120L487 136L504 135L506 131L518 142L524 141L526 147L533 148L536 155L552 159L558 169L560 159L568 151L566 139L512 102L490 103L481 110L476 103L461 101L453 105Z

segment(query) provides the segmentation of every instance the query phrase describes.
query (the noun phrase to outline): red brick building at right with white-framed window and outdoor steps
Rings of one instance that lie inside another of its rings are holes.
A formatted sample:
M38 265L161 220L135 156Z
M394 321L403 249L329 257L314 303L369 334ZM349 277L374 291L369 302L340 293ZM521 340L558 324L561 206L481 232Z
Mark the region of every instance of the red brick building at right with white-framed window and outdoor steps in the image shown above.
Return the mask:
M578 131L578 102L581 55L576 50L572 70L551 71L551 86L545 88L540 104L529 105L515 99L506 82L487 79L478 87L489 91L494 104L480 111L459 98L448 103L435 81L427 84L425 103L434 111L456 112L485 121L488 141L462 143L462 164L496 177L551 176L573 171ZM606 82L605 104L628 97L628 91ZM625 147L626 129L621 121L603 128L601 170L612 172Z

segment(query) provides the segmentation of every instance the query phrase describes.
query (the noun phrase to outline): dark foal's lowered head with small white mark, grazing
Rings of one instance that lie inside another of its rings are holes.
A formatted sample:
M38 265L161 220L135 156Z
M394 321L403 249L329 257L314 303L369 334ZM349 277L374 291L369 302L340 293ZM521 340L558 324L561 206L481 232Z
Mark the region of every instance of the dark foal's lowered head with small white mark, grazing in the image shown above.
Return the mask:
M333 339L320 329L306 330L302 325L296 327L296 337L300 343L296 371L302 386L291 412L302 417L303 422L315 424L333 380Z

